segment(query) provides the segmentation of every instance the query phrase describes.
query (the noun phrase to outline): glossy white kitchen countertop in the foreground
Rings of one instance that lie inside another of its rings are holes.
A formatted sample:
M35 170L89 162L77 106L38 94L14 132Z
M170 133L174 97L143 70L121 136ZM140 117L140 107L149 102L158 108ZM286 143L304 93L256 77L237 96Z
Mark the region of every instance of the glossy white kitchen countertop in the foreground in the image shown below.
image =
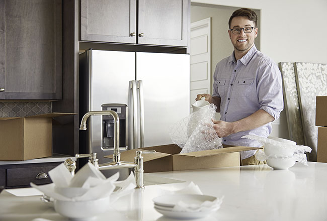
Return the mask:
M147 176L193 181L203 194L224 196L221 208L196 220L326 220L327 164L298 162L289 170L267 165L150 173ZM144 191L119 199L96 220L174 220L154 210L152 198L163 188L183 187L187 182L149 185ZM32 220L36 217L67 220L40 201L40 196L0 194L0 220Z

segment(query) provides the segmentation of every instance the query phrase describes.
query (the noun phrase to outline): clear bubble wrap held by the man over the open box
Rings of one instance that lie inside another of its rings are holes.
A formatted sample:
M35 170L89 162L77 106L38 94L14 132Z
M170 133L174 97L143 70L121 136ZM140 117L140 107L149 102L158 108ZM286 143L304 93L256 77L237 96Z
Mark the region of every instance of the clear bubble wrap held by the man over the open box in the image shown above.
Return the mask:
M216 134L211 121L215 113L216 106L210 104L171 126L170 137L182 148L181 153L222 148L222 138Z

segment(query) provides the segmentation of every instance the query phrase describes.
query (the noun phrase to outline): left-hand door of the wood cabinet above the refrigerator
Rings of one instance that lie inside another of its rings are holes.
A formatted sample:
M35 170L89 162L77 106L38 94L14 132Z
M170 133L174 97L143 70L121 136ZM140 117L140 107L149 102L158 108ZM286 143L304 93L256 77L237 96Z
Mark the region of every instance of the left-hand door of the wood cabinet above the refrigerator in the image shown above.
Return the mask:
M136 43L136 0L81 0L80 40Z

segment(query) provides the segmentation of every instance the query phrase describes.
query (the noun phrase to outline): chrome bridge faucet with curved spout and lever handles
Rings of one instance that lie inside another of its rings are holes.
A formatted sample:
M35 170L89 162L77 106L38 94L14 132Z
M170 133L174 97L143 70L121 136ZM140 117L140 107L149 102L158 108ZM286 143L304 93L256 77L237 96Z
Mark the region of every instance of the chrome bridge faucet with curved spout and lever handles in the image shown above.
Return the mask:
M98 164L99 159L97 159L97 153L93 153L92 148L90 148L89 154L76 154L75 157L83 158L89 157L89 162L92 163L97 169L99 170L110 170L110 169L119 169L119 168L134 168L135 172L135 182L136 187L135 189L143 189L144 182L143 182L143 157L142 153L155 153L155 150L152 151L136 151L136 156L134 157L134 162L124 162L120 160L120 153L119 153L119 116L114 111L92 111L86 113L81 122L79 130L86 131L87 130L87 120L90 116L94 115L111 115L114 118L114 154L112 162ZM69 171L71 171L71 167L66 166ZM73 174L73 173L72 173Z

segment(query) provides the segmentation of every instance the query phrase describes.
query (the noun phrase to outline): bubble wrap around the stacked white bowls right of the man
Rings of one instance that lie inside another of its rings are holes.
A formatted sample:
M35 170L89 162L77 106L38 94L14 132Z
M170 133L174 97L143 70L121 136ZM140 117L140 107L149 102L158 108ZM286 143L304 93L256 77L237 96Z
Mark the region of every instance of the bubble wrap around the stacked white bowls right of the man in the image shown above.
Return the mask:
M293 158L295 161L298 161L306 166L308 165L307 159L306 159L306 154L305 154L305 152L311 152L311 148L308 146L285 144L285 143L282 143L279 141L275 141L275 140L272 140L269 138L259 137L256 135L247 135L247 136L243 136L241 138L248 138L251 140L256 140L263 145L272 144L272 145L276 146L276 148L287 148L287 149L291 149L293 151L292 156L270 156L270 157L268 157L263 150L259 150L256 153L256 158L260 161L265 161L269 158Z

